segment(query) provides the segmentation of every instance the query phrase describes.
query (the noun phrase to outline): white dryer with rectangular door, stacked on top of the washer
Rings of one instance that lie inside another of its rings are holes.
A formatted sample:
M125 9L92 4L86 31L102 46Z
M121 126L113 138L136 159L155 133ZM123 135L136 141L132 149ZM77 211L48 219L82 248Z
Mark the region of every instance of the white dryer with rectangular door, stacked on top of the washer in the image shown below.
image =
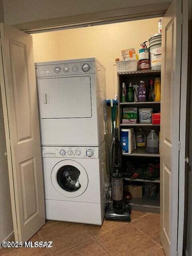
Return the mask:
M105 68L96 58L36 63L42 146L99 146L106 138Z

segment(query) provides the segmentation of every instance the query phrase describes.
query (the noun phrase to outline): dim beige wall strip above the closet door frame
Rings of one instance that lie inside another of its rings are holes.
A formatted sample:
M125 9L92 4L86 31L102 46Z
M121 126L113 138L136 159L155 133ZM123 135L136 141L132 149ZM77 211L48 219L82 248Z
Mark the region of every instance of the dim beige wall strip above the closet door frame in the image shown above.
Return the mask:
M20 24L144 5L153 10L153 4L167 2L171 0L4 0L4 17L6 24Z

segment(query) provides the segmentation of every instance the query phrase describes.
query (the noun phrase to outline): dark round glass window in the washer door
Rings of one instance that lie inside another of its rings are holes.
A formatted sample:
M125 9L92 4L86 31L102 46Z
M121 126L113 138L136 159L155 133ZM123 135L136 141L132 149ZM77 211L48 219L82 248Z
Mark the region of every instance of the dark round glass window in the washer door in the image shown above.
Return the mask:
M76 167L72 165L66 165L58 170L57 182L64 190L68 192L74 192L81 187L79 182L79 175L80 171Z

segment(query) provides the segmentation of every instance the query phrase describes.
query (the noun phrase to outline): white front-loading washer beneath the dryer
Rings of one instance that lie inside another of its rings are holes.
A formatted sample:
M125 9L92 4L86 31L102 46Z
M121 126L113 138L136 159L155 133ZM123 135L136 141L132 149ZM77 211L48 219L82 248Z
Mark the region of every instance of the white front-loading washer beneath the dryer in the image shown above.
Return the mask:
M42 147L46 219L101 225L106 153L99 147Z

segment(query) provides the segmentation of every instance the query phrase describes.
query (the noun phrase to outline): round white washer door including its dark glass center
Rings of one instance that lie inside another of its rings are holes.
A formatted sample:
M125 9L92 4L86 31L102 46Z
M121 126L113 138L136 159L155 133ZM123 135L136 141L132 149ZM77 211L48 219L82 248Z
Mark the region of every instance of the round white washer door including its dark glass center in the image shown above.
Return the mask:
M51 182L62 196L74 198L85 192L88 186L88 175L78 162L62 160L52 169Z

